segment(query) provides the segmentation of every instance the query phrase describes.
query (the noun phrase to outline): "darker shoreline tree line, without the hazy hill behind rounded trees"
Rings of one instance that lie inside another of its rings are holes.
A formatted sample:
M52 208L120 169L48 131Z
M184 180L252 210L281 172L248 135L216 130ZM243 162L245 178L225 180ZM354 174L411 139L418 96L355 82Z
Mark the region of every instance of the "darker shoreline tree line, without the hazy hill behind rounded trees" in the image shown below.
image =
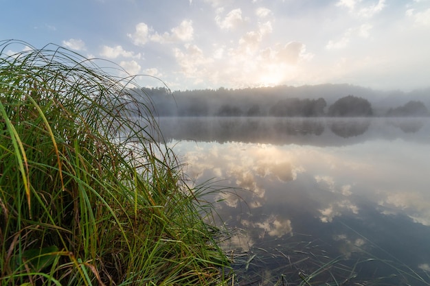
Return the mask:
M270 92L268 92L270 91ZM374 108L368 99L355 95L340 97L328 104L324 97L288 97L276 89L175 91L145 88L153 111L159 116L188 117L372 117ZM143 94L144 93L144 94ZM423 102L410 100L390 107L376 116L425 117L430 112Z

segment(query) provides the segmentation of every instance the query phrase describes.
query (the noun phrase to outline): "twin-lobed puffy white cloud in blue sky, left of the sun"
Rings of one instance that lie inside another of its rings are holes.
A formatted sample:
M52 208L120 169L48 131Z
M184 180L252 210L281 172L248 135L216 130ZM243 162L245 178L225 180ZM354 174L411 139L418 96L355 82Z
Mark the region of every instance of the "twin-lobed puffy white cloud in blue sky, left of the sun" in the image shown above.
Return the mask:
M189 42L194 36L192 20L183 20L179 26L170 29L170 32L164 32L163 34L151 32L152 29L146 23L139 23L135 27L135 32L127 34L127 36L133 40L135 45L139 46L143 46L149 41L156 43Z

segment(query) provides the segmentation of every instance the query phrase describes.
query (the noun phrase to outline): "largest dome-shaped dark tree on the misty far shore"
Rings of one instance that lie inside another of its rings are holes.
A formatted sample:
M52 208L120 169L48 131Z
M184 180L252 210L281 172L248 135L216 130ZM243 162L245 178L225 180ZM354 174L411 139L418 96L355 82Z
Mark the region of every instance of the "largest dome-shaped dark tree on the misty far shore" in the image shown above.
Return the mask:
M331 117L365 117L372 116L372 105L367 99L348 95L337 99L328 108L328 116Z

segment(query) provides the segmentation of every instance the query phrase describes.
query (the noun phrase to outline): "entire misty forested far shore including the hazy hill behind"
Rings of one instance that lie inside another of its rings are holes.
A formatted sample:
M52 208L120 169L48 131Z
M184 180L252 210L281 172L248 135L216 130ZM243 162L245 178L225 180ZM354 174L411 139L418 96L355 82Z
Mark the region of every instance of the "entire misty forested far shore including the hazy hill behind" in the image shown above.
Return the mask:
M218 88L173 91L135 89L160 117L427 117L430 90L374 91L348 84Z

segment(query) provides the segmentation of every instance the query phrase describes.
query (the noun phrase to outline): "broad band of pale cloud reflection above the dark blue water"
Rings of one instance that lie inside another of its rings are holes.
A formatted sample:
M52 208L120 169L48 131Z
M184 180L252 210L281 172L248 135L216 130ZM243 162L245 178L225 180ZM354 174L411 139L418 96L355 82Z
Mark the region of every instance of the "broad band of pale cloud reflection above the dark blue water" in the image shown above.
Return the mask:
M359 204L367 201L378 204L380 213L403 212L415 222L430 225L430 181L422 173L430 169L430 160L424 156L429 150L422 143L397 140L387 145L387 141L374 140L341 147L172 144L188 163L186 171L193 180L216 178L225 186L248 190L240 198L220 194L229 208L238 207L241 200L251 209L284 204L300 207L321 222L332 222L343 213L359 213Z

